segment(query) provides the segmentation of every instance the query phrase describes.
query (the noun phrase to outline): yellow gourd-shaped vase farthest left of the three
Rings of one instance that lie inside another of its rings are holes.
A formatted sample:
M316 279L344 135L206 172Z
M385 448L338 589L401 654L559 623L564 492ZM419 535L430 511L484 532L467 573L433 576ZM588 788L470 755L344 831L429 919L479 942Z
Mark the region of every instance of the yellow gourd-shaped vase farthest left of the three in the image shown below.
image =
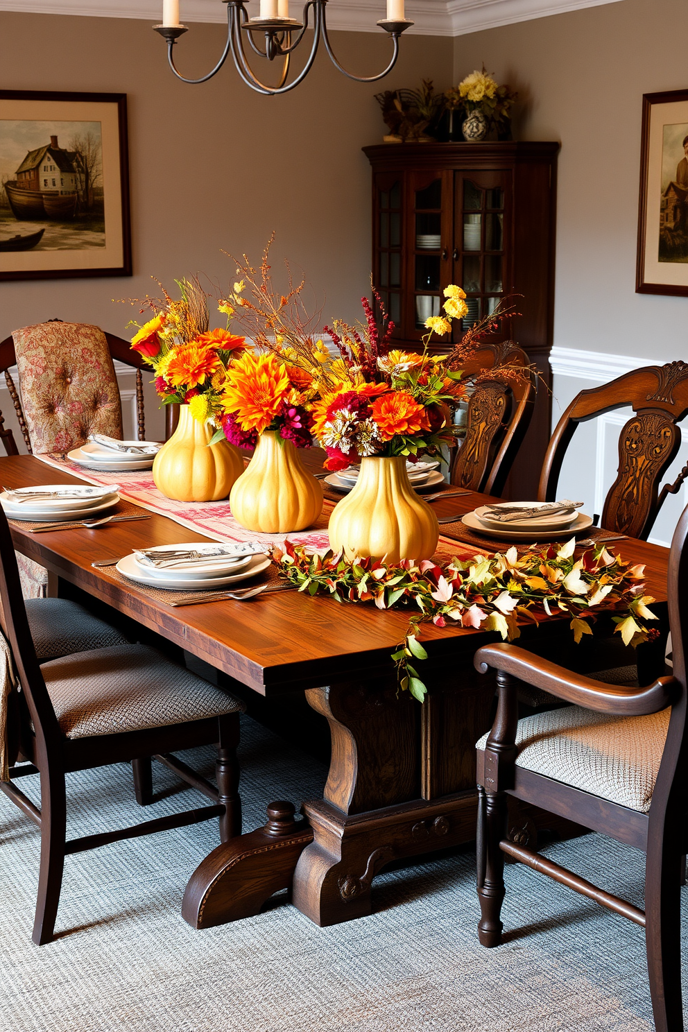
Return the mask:
M215 430L179 406L179 422L153 463L159 491L178 502L218 502L226 498L243 473L241 452L228 441L209 444Z

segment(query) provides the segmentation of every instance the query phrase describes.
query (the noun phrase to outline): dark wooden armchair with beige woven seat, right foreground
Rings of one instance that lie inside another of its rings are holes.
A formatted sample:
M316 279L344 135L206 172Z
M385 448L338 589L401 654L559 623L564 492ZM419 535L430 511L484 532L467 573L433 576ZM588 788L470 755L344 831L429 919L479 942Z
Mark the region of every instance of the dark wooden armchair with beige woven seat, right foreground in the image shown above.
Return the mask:
M674 535L668 614L674 674L621 687L571 672L513 645L476 653L496 672L497 711L478 742L479 938L502 941L504 856L645 928L657 1032L682 1032L681 898L687 847L688 508ZM566 702L518 719L518 683ZM507 838L507 797L577 821L646 853L645 911Z

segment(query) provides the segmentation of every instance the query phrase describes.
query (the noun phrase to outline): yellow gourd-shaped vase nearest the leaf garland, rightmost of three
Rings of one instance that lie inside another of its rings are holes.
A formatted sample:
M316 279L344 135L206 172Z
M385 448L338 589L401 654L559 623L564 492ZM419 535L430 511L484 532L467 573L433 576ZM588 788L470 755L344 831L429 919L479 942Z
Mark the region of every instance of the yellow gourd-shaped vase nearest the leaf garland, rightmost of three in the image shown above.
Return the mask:
M335 507L328 530L333 551L343 549L348 559L429 559L439 540L435 514L411 486L403 456L362 458L356 485Z

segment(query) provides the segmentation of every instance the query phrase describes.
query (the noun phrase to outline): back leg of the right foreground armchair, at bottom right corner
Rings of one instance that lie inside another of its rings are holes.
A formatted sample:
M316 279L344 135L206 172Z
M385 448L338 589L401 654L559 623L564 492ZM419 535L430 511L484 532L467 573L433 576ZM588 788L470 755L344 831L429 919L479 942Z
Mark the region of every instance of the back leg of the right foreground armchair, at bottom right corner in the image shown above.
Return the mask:
M681 850L649 837L645 938L656 1032L683 1032L681 999Z

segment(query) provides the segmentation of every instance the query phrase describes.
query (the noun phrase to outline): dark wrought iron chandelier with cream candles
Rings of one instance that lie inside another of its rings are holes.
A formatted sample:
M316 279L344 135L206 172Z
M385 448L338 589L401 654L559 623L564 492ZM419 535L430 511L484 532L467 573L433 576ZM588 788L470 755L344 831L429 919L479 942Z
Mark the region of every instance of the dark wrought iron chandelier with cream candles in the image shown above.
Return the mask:
M399 56L399 36L414 24L404 18L404 0L387 0L387 18L382 22L378 22L378 25L392 37L394 46L392 59L387 68L380 72L379 75L370 75L366 78L359 75L352 75L346 68L342 68L334 56L327 33L327 0L307 0L303 7L302 21L300 22L297 19L290 18L289 0L260 0L260 13L258 18L249 18L245 9L247 0L222 0L222 2L227 4L227 42L222 57L212 71L209 71L207 75L203 75L201 78L185 78L174 66L174 55L172 52L172 47L178 37L188 31L185 25L179 24L179 0L163 0L163 24L154 26L154 29L167 40L169 66L176 77L182 79L183 83L207 83L209 78L212 78L220 71L231 52L236 70L252 90L267 95L288 93L289 90L293 90L295 86L302 83L310 71L321 39L334 66L342 74L347 75L348 78L353 78L357 83L376 83L378 79L384 78L396 64L396 59ZM310 54L299 74L291 83L287 83L291 56L301 42L308 28L308 19L312 11L314 38ZM256 42L254 33L263 36L262 44ZM276 86L267 86L252 71L247 60L244 40L248 40L251 50L258 57L265 58L268 61L283 59L282 73Z

